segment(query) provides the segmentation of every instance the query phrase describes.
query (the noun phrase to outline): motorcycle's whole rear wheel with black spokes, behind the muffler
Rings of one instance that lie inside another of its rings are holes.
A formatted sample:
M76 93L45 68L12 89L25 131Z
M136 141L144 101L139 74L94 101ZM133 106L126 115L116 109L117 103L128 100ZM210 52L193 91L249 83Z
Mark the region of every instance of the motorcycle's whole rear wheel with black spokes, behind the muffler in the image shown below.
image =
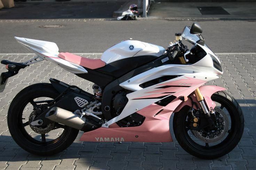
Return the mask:
M49 121L38 127L30 123L37 113L48 109L59 93L48 83L28 86L13 99L8 110L8 128L14 141L24 150L37 155L53 155L69 147L79 130Z

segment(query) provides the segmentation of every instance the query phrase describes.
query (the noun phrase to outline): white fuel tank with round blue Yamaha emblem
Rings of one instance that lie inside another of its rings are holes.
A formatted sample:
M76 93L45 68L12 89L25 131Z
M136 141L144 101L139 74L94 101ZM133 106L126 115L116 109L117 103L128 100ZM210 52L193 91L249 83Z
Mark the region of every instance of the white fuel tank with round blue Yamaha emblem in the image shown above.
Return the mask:
M159 57L165 53L165 48L159 45L153 45L135 40L122 41L107 49L101 56L105 63L136 57L136 56L156 56Z

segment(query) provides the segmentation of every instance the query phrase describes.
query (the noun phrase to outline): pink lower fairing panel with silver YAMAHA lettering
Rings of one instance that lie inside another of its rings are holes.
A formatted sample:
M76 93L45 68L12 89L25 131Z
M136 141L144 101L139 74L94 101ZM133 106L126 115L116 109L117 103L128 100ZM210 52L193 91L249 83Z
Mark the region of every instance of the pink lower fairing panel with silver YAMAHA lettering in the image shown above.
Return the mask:
M163 108L160 105L151 104L139 110L137 113L145 116L145 120L141 126L119 127L117 124L113 124L109 128L101 127L84 133L80 141L172 142L173 139L171 138L169 129L169 118L172 112Z

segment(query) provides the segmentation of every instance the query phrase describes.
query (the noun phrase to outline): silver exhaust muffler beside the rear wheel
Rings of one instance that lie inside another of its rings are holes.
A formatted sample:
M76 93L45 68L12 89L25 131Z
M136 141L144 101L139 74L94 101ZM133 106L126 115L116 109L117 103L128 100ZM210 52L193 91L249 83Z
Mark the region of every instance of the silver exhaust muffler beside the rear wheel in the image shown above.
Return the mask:
M86 116L80 118L80 114L76 114L58 107L51 108L46 113L45 117L54 122L82 131L91 131L101 126L100 122L96 122Z

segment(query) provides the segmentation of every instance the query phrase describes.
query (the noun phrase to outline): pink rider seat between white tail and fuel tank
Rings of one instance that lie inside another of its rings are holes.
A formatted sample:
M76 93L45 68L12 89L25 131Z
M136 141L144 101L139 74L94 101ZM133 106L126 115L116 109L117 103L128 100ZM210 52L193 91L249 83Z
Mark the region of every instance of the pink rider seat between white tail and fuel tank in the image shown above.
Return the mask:
M69 52L61 52L59 53L58 57L89 69L97 69L106 65L106 63L101 59L84 58Z

